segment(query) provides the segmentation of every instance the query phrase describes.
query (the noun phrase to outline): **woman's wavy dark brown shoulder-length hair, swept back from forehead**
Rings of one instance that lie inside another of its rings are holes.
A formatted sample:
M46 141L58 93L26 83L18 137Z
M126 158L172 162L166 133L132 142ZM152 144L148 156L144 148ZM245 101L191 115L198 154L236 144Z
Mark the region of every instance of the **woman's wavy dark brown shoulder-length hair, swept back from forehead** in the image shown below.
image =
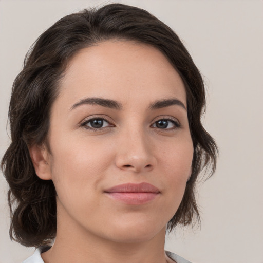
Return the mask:
M9 184L10 237L24 246L49 244L57 231L53 182L36 176L28 146L47 143L50 108L70 58L80 49L110 39L125 39L158 48L180 74L186 89L187 115L194 145L192 175L182 202L168 222L172 230L199 219L195 185L203 168L215 171L217 147L201 124L205 90L200 72L176 33L137 7L109 4L63 17L36 40L16 77L9 106L11 144L2 170Z

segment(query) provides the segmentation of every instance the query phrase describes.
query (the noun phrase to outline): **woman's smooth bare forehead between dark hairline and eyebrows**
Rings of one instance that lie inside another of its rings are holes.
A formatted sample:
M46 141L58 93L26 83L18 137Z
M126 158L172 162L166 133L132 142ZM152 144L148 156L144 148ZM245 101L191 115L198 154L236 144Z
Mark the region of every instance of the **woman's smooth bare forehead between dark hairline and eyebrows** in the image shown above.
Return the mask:
M72 103L87 96L124 104L176 97L186 105L184 84L160 50L120 40L81 49L69 62L59 97Z

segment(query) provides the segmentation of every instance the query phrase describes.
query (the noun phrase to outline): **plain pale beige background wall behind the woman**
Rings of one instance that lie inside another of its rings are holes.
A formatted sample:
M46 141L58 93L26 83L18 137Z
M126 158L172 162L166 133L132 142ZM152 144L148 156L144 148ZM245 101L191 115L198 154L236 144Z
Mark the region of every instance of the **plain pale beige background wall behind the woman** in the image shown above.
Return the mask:
M263 262L263 1L126 0L172 27L204 75L208 87L206 129L220 158L215 175L199 186L200 229L178 231L166 249L193 263ZM24 56L62 16L101 1L0 0L0 154L12 82ZM0 263L33 253L8 236L7 186L0 176Z

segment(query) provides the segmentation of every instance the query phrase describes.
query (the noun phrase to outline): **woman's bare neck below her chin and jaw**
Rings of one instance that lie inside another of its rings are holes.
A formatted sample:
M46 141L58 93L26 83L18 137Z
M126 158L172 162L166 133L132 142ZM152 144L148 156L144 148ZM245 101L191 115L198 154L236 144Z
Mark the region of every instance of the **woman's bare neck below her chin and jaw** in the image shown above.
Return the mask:
M58 216L57 238L41 256L45 263L166 263L165 232L163 228L143 240L110 240L72 223L70 218L60 221Z

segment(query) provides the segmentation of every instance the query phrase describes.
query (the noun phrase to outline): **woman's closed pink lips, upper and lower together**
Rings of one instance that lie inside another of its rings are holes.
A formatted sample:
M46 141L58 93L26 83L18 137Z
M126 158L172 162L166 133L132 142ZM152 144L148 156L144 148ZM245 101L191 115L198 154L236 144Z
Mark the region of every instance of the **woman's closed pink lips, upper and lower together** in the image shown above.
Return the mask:
M125 183L104 191L110 198L127 204L145 204L160 195L160 190L149 183Z

